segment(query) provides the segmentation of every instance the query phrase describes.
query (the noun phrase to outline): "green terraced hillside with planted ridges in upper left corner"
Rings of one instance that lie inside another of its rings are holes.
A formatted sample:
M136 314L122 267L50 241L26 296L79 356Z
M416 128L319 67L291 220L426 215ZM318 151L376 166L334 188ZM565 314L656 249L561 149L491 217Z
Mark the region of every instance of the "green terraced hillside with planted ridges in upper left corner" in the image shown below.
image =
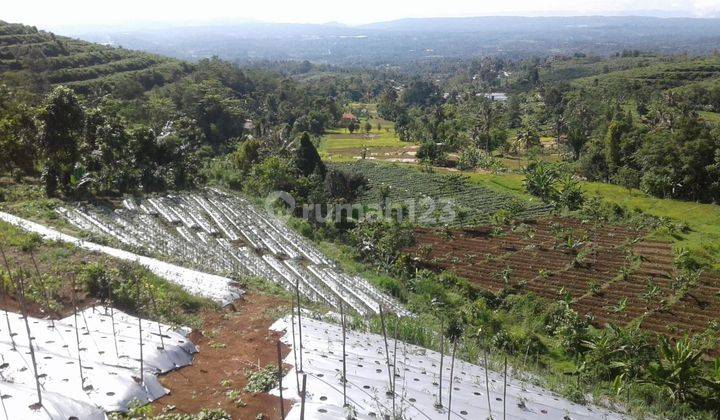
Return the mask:
M132 94L171 83L189 65L0 21L0 80L42 91L57 84L83 94Z

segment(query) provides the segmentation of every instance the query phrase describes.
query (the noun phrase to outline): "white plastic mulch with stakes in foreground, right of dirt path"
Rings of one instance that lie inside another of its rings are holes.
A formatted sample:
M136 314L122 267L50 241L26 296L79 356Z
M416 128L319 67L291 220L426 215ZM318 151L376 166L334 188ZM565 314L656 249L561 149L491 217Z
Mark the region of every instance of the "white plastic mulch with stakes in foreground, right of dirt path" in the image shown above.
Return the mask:
M296 320L297 321L297 320ZM282 340L291 349L299 347L299 331L290 334L289 317L280 319L271 329L285 332ZM307 375L305 418L330 420L344 418L342 386L342 329L339 325L303 318L303 371ZM388 339L390 360L394 358L395 342ZM298 349L299 350L299 349ZM299 356L299 355L298 355ZM299 357L298 357L299 358ZM293 351L285 363L296 366ZM392 392L383 337L354 331L347 332L346 366L347 399L355 418L393 418ZM447 419L448 394L452 383L453 397L450 418L453 419L620 419L622 416L594 406L570 402L538 386L507 378L507 400L503 401L503 375L488 371L489 387L485 385L485 369L460 360L450 378L450 357L445 357L443 408L436 408L439 398L440 354L418 346L397 343L395 375L395 415L407 419ZM300 376L302 383L302 376ZM295 404L287 419L300 418L298 381L293 368L283 378L283 397ZM300 385L302 386L302 385ZM488 407L488 388L490 406ZM271 392L279 395L279 389ZM505 407L505 408L504 408Z

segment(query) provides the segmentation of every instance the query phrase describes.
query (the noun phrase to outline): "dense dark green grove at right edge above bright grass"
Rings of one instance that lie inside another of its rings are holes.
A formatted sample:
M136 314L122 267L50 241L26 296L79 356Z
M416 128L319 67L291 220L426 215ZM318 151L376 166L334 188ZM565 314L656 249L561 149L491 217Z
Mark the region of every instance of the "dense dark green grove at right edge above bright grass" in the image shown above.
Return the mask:
M687 102L669 96L635 112L617 107L594 129L578 119L565 127L590 180L662 198L720 201L720 130Z

